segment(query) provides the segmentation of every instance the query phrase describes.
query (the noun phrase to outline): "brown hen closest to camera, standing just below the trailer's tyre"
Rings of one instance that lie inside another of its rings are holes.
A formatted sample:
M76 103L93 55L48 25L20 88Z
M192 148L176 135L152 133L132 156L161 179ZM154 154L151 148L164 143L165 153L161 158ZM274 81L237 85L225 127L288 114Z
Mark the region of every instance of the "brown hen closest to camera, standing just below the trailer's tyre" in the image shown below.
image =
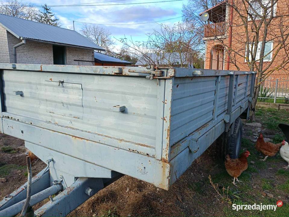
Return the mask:
M238 180L238 177L241 175L243 171L245 171L248 168L247 157L249 155L250 155L250 152L245 151L237 159L231 159L229 155L226 156L225 167L226 167L228 174L234 177L234 181L232 182L234 185L236 185L235 179L237 180L237 182L242 182Z

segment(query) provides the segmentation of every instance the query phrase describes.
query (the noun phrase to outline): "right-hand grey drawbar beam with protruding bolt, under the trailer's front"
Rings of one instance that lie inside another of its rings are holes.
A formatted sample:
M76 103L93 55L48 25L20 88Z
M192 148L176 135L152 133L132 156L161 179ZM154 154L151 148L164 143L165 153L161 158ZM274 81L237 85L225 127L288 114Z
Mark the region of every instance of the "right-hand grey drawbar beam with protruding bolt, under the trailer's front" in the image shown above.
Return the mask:
M88 187L93 190L88 192ZM102 178L78 178L71 186L37 209L36 216L66 216L103 188Z

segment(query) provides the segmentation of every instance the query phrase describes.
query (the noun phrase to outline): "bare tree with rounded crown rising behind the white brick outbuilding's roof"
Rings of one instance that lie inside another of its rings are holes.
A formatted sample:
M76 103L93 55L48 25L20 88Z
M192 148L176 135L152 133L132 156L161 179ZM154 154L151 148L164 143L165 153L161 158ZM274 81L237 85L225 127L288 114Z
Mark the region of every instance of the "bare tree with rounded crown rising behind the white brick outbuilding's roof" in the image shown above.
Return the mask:
M112 54L114 42L108 30L95 24L83 24L80 32L98 46L104 48L107 54Z

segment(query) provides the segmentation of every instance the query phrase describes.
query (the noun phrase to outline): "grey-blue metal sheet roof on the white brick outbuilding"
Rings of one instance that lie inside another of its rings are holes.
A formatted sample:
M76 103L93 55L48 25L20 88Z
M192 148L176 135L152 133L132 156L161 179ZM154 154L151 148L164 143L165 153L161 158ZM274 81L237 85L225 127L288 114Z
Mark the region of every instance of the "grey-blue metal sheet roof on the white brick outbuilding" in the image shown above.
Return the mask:
M105 50L74 30L0 14L0 25L17 38Z

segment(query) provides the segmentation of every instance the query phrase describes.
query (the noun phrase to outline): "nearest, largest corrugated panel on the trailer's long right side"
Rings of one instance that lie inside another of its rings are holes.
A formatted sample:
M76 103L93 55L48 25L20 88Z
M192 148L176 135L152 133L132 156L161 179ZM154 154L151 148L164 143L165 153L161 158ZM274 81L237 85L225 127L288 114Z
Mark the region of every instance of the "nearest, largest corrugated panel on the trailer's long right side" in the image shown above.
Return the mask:
M215 90L216 77L174 79L171 145L212 120Z

